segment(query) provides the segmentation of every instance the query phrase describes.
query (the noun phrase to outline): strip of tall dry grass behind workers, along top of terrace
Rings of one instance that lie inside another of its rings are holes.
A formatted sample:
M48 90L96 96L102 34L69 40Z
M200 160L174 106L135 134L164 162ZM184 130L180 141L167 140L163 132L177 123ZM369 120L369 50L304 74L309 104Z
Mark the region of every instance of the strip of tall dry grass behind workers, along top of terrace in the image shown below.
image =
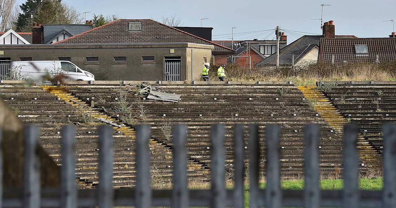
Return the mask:
M211 80L217 79L217 66L209 71ZM381 63L314 63L299 67L260 67L248 69L227 65L228 81L292 81L297 86L313 86L317 81L394 81L396 61Z

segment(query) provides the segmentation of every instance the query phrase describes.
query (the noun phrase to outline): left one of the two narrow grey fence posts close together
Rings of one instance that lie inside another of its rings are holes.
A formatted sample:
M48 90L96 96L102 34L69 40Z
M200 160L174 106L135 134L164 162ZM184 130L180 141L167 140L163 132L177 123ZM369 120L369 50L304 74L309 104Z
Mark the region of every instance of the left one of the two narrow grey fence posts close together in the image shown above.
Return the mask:
M245 197L245 126L236 124L234 126L234 208L244 208Z

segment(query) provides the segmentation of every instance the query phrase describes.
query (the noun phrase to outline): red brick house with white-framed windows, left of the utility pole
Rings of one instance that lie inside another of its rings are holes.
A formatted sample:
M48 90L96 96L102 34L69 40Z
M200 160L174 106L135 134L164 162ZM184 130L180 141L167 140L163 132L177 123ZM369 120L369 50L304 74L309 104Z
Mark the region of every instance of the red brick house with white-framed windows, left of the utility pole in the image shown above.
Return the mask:
M276 40L215 40L218 44L236 49L232 57L228 57L227 63L238 63L243 66L253 66L273 53L276 53ZM282 33L279 48L287 45L287 36Z

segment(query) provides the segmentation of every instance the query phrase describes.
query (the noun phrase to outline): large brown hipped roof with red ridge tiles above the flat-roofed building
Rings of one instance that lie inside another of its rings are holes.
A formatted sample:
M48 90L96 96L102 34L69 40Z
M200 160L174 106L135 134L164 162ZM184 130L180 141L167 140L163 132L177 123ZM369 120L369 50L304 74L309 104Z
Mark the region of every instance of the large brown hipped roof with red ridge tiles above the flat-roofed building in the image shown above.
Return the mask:
M142 31L129 32L130 22L142 23ZM152 19L119 19L101 27L82 32L57 43L84 44L84 43L175 43L192 42L198 44L210 44L215 48L213 53L234 53L233 50L221 46L209 40L181 31L174 27L164 25Z

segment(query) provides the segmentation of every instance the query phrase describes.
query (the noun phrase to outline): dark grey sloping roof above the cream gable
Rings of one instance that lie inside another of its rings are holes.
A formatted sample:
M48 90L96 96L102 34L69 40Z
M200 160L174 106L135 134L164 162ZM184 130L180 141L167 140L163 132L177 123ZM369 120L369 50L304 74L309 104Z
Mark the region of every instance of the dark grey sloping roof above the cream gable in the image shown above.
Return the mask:
M297 63L305 54L319 45L321 35L305 35L295 40L291 44L282 48L279 52L279 65L291 65ZM268 56L266 59L257 64L257 66L276 65L276 53Z

